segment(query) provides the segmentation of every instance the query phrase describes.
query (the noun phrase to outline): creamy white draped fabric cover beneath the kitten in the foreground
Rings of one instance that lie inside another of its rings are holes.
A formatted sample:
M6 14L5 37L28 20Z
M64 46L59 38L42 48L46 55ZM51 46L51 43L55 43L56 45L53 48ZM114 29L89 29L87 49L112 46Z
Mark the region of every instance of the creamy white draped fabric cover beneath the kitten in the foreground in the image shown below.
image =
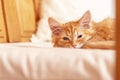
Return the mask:
M0 80L114 80L114 72L114 50L0 44Z

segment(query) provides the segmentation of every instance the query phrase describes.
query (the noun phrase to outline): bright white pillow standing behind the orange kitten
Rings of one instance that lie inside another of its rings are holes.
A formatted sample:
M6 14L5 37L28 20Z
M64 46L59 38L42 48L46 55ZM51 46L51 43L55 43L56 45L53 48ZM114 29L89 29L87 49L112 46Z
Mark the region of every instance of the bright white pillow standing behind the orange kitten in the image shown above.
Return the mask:
M41 0L40 20L32 42L51 41L51 31L48 17L53 17L61 23L79 19L84 12L90 10L94 21L105 17L114 17L114 0Z

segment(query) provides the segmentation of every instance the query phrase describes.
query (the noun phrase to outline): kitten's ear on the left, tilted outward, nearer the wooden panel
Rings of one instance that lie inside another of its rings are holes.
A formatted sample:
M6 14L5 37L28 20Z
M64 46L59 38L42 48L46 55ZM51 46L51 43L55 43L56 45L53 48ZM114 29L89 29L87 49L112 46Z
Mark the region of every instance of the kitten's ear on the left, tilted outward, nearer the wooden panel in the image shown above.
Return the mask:
M53 18L48 18L48 24L53 34L59 35L62 31L61 24Z

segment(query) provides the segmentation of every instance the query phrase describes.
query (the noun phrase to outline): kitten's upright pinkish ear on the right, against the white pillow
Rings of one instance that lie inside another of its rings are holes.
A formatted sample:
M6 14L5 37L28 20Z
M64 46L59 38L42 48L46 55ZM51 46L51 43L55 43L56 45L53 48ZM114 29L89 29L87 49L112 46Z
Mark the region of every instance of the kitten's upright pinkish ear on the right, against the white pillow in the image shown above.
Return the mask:
M90 11L86 11L81 18L80 27L83 29L89 29L91 24L91 14Z

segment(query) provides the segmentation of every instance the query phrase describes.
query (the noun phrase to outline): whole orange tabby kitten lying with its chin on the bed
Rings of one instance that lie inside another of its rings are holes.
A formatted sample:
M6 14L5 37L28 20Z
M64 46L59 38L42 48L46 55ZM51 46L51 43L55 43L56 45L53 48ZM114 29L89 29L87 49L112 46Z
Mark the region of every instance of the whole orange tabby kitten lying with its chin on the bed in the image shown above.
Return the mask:
M49 18L48 23L54 47L114 48L115 22L111 18L95 23L90 11L86 11L77 21L61 24Z

